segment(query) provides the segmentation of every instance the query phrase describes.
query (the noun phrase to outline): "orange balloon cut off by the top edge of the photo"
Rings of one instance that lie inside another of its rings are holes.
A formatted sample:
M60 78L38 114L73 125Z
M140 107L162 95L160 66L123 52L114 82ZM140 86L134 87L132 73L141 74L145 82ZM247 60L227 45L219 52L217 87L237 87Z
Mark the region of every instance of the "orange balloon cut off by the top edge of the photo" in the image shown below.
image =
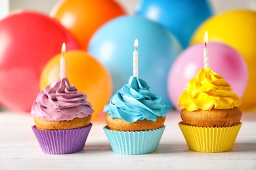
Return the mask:
M69 29L81 48L87 50L89 40L101 25L125 14L114 0L66 0L60 1L50 15Z

